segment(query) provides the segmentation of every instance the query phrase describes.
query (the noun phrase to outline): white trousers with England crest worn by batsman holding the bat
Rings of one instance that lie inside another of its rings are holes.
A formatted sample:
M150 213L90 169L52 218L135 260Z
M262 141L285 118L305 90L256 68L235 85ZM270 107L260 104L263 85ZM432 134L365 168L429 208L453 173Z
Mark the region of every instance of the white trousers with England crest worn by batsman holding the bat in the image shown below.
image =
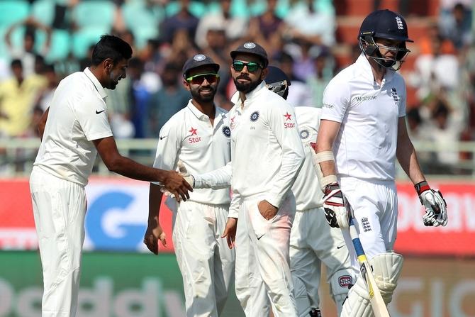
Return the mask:
M386 250L393 250L398 220L396 183L342 177L340 186L353 208L355 227L368 260ZM350 231L343 230L343 237L350 246L348 250L354 271L359 273Z

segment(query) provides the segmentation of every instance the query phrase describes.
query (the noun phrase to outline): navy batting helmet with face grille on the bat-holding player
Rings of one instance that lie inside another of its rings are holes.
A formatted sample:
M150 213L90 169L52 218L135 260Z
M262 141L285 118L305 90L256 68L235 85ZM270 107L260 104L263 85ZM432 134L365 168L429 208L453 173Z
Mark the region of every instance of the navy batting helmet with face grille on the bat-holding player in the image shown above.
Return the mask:
M383 38L386 40L399 41L397 47L384 46L376 44L375 38ZM377 10L364 18L359 28L358 34L359 49L364 52L367 57L374 59L379 65L399 69L401 68L404 58L410 50L406 48L406 42L414 42L408 37L408 26L406 21L398 13L385 10ZM379 48L397 51L395 58L383 57Z

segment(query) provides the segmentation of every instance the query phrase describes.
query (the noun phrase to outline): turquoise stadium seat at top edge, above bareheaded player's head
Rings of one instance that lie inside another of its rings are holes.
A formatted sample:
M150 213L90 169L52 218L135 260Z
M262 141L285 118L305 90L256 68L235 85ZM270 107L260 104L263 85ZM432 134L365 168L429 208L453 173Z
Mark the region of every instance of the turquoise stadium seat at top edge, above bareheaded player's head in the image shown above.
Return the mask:
M72 11L72 19L80 28L111 28L115 18L116 6L112 1L83 0Z

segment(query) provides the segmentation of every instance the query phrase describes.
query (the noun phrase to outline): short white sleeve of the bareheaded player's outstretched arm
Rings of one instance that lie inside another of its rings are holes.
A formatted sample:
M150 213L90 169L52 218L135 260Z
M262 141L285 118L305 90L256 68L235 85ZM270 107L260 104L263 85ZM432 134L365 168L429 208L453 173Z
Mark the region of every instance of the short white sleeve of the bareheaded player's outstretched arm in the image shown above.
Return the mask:
M111 124L107 118L106 104L95 96L86 96L75 108L76 120L88 141L112 136Z

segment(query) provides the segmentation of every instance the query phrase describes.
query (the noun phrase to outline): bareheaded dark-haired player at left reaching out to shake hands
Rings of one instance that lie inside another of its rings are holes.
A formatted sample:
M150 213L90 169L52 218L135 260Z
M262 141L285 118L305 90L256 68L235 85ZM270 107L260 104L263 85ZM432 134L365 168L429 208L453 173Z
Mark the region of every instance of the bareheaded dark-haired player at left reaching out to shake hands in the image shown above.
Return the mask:
M41 265L43 317L76 315L81 276L86 186L97 152L109 170L125 177L161 182L186 199L191 190L175 171L140 165L119 154L107 117L106 91L125 78L132 49L101 36L91 67L62 79L40 121L40 150L30 175Z

